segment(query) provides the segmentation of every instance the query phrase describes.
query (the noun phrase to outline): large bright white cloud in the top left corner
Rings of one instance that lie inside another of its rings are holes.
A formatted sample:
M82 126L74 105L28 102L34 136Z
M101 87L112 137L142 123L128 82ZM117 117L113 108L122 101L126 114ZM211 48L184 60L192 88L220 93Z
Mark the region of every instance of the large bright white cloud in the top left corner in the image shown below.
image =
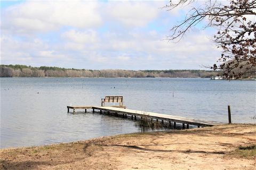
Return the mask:
M98 27L102 24L98 6L83 1L27 1L7 8L2 24L18 33L46 32L62 26Z

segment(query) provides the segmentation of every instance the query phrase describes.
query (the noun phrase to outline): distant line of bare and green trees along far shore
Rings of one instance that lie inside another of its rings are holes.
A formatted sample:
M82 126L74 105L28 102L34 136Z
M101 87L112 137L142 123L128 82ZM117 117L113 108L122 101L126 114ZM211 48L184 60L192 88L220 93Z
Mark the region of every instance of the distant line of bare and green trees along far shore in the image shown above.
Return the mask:
M0 77L210 78L218 74L219 71L206 70L85 70L51 66L0 65Z

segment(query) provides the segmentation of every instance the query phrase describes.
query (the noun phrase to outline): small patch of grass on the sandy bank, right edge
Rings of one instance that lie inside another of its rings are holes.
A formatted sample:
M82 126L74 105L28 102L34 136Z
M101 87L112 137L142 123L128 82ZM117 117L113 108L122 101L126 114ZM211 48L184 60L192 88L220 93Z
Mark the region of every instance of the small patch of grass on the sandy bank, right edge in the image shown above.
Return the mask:
M254 159L256 158L256 145L251 146L239 146L234 151L228 152L227 157L231 158L245 158L245 159Z

